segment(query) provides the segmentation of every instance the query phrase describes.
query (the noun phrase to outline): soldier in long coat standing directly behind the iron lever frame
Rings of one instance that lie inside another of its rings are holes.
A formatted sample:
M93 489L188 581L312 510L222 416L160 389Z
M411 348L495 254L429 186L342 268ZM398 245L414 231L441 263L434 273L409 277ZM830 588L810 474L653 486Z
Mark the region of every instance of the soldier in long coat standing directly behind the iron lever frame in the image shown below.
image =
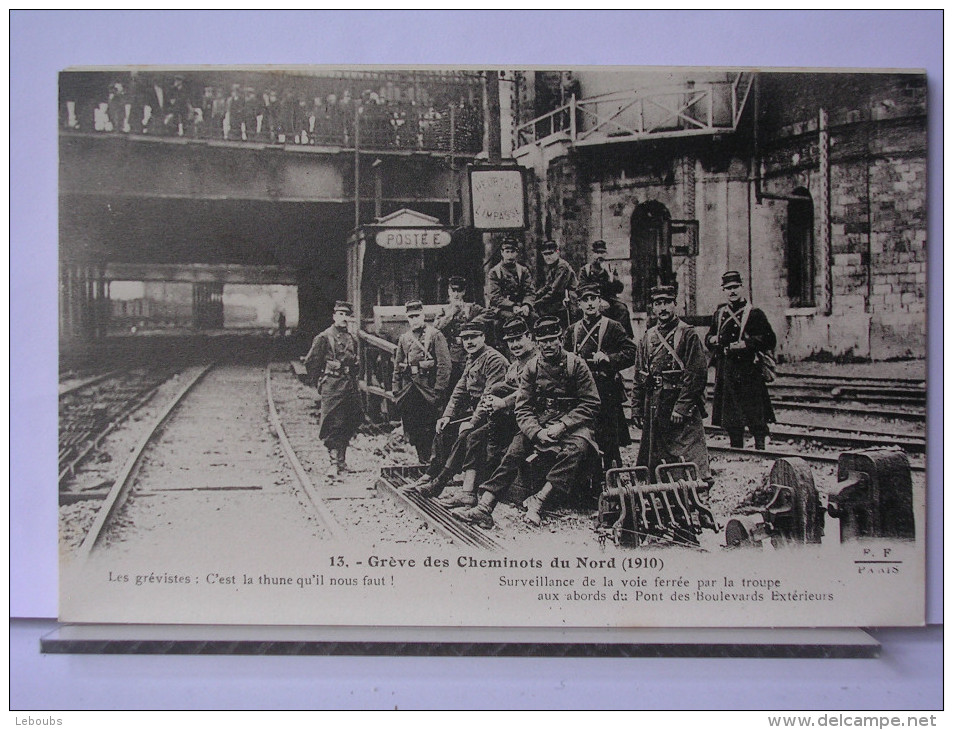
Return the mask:
M705 385L708 365L701 339L675 315L675 287L650 293L657 323L636 350L632 417L642 429L639 465L655 467L690 461L698 475L711 480L705 445Z

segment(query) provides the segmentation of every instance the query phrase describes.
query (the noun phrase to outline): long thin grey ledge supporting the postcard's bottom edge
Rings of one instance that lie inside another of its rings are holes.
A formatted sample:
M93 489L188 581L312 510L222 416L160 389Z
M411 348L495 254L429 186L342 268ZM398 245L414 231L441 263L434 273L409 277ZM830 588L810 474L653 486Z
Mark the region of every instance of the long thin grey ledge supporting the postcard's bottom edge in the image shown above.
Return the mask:
M528 629L63 624L45 654L863 659L862 629Z

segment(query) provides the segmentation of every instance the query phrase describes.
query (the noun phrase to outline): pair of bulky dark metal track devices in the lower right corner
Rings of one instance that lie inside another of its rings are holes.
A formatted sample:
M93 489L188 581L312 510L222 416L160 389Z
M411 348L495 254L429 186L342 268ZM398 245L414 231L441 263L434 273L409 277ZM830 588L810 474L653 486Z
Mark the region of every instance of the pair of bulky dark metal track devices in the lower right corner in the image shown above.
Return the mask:
M913 485L907 455L896 448L842 453L837 484L818 491L807 462L775 461L766 487L753 490L743 513L725 525L727 547L820 543L825 511L840 521L840 540L915 537ZM826 497L826 510L822 498Z

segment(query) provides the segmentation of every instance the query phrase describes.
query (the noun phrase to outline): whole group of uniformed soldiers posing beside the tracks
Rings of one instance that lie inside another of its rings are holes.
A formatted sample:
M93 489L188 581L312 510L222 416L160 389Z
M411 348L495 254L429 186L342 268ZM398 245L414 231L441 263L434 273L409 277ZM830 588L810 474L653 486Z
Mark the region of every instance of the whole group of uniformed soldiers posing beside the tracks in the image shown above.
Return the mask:
M487 277L487 307L466 301L467 282L451 277L448 303L428 324L419 301L406 304L408 329L394 353L392 397L423 475L410 489L455 517L493 526L493 509L519 483L529 492L524 519L539 525L554 493L591 507L607 469L632 443L622 371L634 368L632 422L641 430L637 464L693 462L713 483L703 418L709 356L716 371L713 423L732 446L747 426L764 449L774 420L759 357L776 346L764 313L742 296L741 275L726 272L726 303L705 338L675 314L676 288L651 290L654 324L636 342L605 244L577 275L553 242L543 244L543 284L535 288L504 243ZM616 288L618 286L618 288ZM614 304L618 304L615 307ZM621 307L621 309L620 309ZM363 420L356 385L357 341L351 307L338 302L334 324L306 356L321 378L320 437L332 471L347 470L347 443ZM612 314L624 312L624 321ZM505 353L505 354L504 354ZM457 489L448 489L462 475Z

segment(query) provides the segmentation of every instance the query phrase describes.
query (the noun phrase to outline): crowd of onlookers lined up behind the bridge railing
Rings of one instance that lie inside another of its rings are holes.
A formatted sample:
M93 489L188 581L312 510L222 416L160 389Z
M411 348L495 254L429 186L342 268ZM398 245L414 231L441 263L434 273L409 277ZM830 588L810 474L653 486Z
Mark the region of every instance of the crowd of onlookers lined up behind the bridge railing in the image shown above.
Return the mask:
M482 102L467 85L210 72L64 73L61 126L281 145L479 152Z

